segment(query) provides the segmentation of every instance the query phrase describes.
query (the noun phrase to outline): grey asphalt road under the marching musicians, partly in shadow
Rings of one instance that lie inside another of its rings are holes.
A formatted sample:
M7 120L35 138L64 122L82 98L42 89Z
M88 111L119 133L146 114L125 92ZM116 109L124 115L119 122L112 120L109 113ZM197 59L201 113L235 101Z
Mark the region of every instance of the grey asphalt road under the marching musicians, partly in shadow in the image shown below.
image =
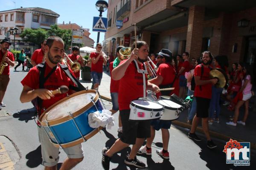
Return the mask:
M19 70L19 68L18 68ZM16 145L16 149L20 154L20 160L15 164L17 170L42 170L41 165L41 147L38 142L37 126L34 120L31 103L20 103L19 96L22 90L20 80L25 77L27 72L14 72L11 69L11 80L6 91L4 102L6 107L2 111L8 110L13 113L11 116L0 117L0 135L7 136ZM33 80L31 80L33 81ZM112 105L104 102L107 109ZM118 120L118 113L114 115ZM78 164L74 170L102 170L101 166L101 150L103 147L110 147L117 136L117 122L111 130L101 130L87 142L84 142L84 160ZM235 167L232 164L226 164L226 155L222 152L227 141L213 139L218 147L210 150L206 147L206 139L204 135L198 134L203 140L194 142L187 137L187 129L175 127L172 125L170 131L169 153L170 159L163 160L155 151L162 148L161 132L156 133L152 146L152 156L142 157L138 159L145 162L147 167L145 170L245 170L256 169L255 151L250 152L250 167ZM1 142L1 141L0 141ZM134 167L127 167L124 159L130 147L125 148L115 154L111 160L110 169L114 170L134 170ZM66 155L60 150L60 160L64 161Z

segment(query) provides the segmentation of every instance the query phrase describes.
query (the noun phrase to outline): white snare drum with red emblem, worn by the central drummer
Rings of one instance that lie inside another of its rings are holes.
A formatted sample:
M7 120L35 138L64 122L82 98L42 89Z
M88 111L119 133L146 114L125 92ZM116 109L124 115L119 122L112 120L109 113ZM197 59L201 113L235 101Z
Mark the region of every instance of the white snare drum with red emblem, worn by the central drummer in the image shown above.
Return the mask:
M130 104L132 121L159 119L163 114L163 106L147 100L133 100Z

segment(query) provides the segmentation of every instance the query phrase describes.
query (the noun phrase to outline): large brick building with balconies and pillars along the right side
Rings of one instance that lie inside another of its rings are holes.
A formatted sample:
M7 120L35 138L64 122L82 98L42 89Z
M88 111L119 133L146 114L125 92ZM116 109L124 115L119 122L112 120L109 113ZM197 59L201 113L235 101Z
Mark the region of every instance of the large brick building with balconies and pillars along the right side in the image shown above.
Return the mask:
M108 5L109 54L134 42L136 23L137 40L146 41L150 52L169 48L175 55L188 51L198 58L209 50L227 55L230 64L245 62L256 74L255 0L108 0ZM121 28L116 20L123 22Z

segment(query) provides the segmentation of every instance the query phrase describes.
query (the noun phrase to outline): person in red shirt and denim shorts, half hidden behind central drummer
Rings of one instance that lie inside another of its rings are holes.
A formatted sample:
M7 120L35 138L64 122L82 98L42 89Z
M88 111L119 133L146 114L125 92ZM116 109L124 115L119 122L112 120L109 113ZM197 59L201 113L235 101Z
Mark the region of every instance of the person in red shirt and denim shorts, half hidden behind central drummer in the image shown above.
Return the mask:
M119 89L119 80L114 80L112 78L111 72L113 71L114 68L116 68L122 60L124 60L124 57L119 53L119 50L121 48L124 48L124 46L118 46L116 48L116 59L109 64L109 69L110 69L110 76L111 76L111 82L110 82L110 95L111 95L111 100L113 107L110 110L112 113L116 113L119 110L119 105L118 105L118 89ZM118 116L118 130L117 132L122 133L122 121L120 115Z

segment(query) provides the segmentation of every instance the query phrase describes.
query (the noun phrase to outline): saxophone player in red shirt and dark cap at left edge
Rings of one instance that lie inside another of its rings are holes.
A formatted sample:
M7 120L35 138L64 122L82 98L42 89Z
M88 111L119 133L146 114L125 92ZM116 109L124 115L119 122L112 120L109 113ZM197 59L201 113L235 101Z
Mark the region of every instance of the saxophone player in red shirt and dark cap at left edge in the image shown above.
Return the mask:
M0 42L1 44L1 49L0 49L0 62L2 63L2 65L0 65L0 67L3 66L3 62L7 63L7 66L3 69L3 73L0 74L0 110L2 109L2 107L5 107L6 105L3 104L3 96L6 92L8 83L10 81L10 67L14 66L15 62L14 62L14 56L10 51L7 51L10 47L10 45L12 45L11 42L9 42L7 39L4 39L3 41ZM4 55L6 54L6 58L3 59Z

